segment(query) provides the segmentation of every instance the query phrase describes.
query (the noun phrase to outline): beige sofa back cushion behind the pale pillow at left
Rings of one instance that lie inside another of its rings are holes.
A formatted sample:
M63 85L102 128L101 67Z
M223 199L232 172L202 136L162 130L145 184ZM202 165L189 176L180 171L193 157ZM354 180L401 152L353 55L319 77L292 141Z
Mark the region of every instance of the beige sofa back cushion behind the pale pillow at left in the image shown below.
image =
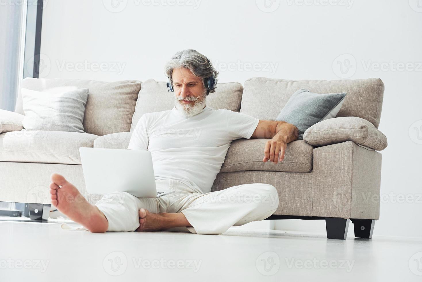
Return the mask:
M141 81L95 81L81 79L34 79L26 78L21 88L35 91L60 93L74 89L88 88L85 105L84 131L103 136L130 130ZM22 95L18 94L15 112L24 114Z

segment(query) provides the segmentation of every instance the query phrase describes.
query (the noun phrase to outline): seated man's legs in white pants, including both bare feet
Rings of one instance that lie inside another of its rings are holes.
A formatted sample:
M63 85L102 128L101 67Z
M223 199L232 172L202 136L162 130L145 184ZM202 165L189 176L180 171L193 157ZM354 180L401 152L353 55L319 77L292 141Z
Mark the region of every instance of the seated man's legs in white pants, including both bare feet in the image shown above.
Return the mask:
M269 217L279 203L272 185L254 183L206 194L181 188L168 198L136 198L116 192L94 206L63 176L53 174L51 181L52 204L89 231L100 233L187 227L192 233L221 234L233 225Z

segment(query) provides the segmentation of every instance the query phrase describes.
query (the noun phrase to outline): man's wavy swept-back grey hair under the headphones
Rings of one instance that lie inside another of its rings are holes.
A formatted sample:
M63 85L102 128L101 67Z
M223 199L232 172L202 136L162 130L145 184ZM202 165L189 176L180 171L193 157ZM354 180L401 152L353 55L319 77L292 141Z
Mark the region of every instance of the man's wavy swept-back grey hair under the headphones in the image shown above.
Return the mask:
M169 77L170 83L173 85L173 70L175 68L187 68L191 71L195 76L202 79L202 84L206 89L206 95L209 93L214 93L216 84L217 84L217 76L218 71L215 70L214 66L211 64L211 61L208 60L203 54L197 52L196 50L187 49L183 51L179 51L171 57L170 61L165 64L165 74ZM207 89L205 86L205 79L211 77L214 73L215 77L215 85L214 89Z

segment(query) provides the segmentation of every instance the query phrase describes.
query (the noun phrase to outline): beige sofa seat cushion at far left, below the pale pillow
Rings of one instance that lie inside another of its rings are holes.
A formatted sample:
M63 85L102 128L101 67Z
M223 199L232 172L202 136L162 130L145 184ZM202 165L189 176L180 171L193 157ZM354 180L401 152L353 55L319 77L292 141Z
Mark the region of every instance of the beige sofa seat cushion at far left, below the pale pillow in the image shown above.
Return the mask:
M79 148L92 148L98 137L64 131L11 131L0 134L0 161L80 165Z

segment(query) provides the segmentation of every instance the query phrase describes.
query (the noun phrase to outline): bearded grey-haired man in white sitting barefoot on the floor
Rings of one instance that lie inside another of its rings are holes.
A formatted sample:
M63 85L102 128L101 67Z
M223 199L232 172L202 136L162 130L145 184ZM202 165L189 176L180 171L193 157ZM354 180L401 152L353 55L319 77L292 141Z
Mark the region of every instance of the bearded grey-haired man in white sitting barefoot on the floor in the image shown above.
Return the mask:
M149 150L157 190L175 193L137 198L105 195L95 205L59 174L51 175L51 202L91 232L177 230L220 234L231 226L263 220L276 211L277 190L270 184L242 184L210 192L233 140L271 138L263 162L282 161L298 129L287 122L258 120L227 109L206 106L218 72L195 50L177 52L165 66L175 105L169 111L143 114L128 149ZM196 134L192 134L195 132ZM175 134L177 133L177 134Z

